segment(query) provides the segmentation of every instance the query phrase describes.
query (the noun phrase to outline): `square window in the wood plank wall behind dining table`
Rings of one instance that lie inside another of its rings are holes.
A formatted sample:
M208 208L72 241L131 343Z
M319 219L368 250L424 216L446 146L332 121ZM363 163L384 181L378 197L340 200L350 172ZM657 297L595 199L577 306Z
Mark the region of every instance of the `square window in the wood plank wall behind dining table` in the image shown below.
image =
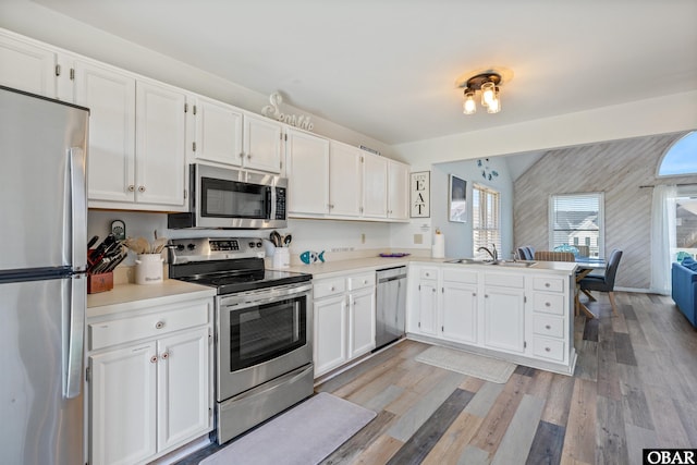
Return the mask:
M602 193L552 195L549 205L550 249L583 244L583 255L587 252L589 257L603 258L603 204Z

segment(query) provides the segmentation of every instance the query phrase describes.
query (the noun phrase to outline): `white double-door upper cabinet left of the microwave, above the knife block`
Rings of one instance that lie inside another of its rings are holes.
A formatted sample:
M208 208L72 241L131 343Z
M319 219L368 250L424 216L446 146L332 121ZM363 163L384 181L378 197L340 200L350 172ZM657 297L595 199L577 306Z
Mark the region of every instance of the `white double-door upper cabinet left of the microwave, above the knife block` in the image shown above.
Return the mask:
M88 59L62 66L62 96L89 108L89 207L183 210L185 93Z

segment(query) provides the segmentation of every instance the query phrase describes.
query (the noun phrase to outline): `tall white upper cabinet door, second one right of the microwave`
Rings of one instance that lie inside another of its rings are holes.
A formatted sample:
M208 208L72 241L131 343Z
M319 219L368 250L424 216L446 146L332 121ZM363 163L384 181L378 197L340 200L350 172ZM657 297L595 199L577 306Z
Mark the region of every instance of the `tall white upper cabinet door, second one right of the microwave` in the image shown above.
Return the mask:
M329 213L359 217L363 208L360 149L331 140L329 154Z

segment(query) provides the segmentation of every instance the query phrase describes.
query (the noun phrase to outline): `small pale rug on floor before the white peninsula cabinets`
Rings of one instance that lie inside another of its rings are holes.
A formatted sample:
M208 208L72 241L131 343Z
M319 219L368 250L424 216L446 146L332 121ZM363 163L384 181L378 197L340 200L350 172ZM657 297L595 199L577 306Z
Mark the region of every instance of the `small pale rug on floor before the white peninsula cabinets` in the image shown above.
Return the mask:
M516 367L509 362L437 345L421 352L416 362L501 384L509 381Z

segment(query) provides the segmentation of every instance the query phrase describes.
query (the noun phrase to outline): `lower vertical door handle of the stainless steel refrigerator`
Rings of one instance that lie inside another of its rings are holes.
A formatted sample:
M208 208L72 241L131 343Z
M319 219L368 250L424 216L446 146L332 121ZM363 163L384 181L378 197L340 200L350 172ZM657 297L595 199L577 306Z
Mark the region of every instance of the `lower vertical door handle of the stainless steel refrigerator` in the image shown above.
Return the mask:
M70 279L70 333L68 334L68 360L65 366L65 399L80 395L83 381L83 347L85 345L85 311L87 308L87 280L83 274Z

